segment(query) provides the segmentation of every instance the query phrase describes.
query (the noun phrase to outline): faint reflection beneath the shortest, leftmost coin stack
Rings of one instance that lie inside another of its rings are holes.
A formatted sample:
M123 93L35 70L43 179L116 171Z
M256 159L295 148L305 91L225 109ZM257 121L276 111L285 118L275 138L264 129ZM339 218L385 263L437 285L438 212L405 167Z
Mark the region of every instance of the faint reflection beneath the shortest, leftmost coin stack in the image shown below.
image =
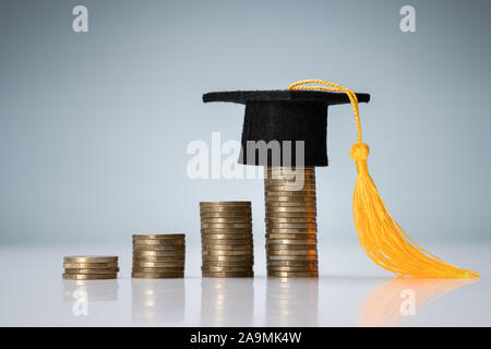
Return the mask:
M118 280L62 280L63 301L73 302L74 299L86 297L89 302L118 300Z

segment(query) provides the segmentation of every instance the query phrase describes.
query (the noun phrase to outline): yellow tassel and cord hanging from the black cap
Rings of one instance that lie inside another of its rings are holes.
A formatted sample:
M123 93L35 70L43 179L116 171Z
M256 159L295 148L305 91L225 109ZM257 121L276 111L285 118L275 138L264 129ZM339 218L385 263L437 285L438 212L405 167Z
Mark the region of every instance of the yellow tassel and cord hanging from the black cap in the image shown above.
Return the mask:
M311 83L323 86L302 86ZM369 146L361 139L358 99L352 91L323 80L299 81L288 89L344 92L349 97L358 131L358 143L351 147L350 153L358 171L352 204L354 220L360 244L373 262L399 277L479 277L478 273L452 266L418 246L392 218L368 171Z

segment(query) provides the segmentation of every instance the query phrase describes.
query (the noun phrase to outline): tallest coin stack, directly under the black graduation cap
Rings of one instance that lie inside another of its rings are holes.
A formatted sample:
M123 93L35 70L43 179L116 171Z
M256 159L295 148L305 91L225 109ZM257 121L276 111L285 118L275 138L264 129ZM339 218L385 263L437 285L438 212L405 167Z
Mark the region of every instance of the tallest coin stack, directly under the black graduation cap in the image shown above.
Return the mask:
M265 167L267 276L318 277L315 168Z

